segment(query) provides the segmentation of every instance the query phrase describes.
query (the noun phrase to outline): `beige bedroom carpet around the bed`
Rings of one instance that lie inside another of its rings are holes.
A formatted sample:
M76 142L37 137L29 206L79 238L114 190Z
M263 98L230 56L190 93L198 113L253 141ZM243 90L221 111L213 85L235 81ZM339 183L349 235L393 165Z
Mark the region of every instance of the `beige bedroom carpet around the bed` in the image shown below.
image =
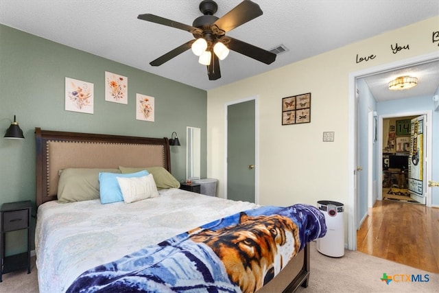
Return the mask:
M381 281L383 274L393 276L395 281L387 285ZM401 277L401 275L403 275ZM411 280L412 275L418 281ZM419 276L423 282L420 281ZM427 277L429 281L427 281ZM401 279L402 278L402 279ZM403 281L399 281L403 280ZM372 257L357 251L345 250L340 258L327 257L311 242L311 276L308 288L296 292L438 292L439 274L432 274L399 263ZM35 257L32 257L32 272L10 272L3 274L1 293L38 293ZM273 292L277 293L277 292Z

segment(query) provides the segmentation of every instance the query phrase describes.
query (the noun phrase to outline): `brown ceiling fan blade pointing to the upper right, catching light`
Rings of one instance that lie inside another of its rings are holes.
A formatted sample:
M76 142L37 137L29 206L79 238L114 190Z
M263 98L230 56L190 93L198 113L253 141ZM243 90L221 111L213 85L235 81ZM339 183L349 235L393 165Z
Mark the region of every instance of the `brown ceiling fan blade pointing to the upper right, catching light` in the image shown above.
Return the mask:
M244 0L224 16L217 19L213 24L217 25L220 30L228 32L235 27L239 27L239 25L243 25L252 19L256 19L258 16L261 16L262 13L263 12L257 3Z

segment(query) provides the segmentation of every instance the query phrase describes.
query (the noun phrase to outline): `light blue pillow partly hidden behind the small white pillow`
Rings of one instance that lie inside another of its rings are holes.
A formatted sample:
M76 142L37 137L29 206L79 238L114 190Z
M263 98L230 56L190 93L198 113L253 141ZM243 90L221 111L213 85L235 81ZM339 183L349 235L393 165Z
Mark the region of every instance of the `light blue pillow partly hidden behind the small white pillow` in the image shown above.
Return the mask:
M146 170L136 173L128 174L115 174L100 172L99 173L99 197L101 198L102 204L109 204L111 202L121 202L123 201L121 187L119 187L119 182L117 177L132 178L132 177L143 177L147 176Z

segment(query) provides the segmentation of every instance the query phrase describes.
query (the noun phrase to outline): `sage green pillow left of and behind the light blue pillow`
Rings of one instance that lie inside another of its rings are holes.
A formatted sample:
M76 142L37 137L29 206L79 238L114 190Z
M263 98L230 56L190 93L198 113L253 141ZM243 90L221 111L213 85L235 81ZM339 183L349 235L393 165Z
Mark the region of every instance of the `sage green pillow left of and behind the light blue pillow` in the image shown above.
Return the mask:
M58 201L98 200L99 172L121 173L119 169L99 168L67 168L60 170Z

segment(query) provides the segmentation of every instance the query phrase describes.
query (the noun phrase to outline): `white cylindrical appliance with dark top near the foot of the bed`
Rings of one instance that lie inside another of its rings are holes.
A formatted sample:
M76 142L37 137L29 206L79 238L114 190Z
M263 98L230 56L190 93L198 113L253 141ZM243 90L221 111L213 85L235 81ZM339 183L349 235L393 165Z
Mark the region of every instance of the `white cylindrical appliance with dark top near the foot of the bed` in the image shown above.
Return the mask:
M344 204L332 200L319 200L317 208L324 214L327 235L317 239L317 250L329 257L344 255Z

